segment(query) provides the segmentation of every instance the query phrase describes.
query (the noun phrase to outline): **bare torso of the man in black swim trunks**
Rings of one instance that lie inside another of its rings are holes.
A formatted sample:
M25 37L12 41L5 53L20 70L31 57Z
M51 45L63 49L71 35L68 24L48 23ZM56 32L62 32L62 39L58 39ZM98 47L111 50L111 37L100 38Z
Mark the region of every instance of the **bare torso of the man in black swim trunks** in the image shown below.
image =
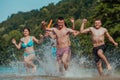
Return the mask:
M106 33L105 28L101 27L99 29L96 29L94 27L91 27L91 32L92 32L92 41L93 41L94 47L105 44L104 43L104 38L105 38L105 33Z

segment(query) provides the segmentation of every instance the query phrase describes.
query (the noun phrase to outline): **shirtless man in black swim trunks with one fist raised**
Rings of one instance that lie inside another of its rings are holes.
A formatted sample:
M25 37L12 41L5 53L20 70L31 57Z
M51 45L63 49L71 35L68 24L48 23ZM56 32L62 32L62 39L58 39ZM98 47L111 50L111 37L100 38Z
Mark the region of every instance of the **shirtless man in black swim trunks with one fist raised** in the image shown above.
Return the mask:
M83 19L80 32L81 33L87 33L91 32L92 34L92 42L93 42L93 53L95 55L95 62L97 64L97 69L99 74L102 76L103 69L102 69L102 61L105 62L107 69L111 70L110 63L108 62L107 58L104 55L105 51L105 42L104 38L105 36L115 45L118 46L118 43L116 43L113 38L110 36L106 28L101 27L102 23L101 20L95 20L95 27L89 27L87 29L84 29L84 25L86 24L87 20Z

